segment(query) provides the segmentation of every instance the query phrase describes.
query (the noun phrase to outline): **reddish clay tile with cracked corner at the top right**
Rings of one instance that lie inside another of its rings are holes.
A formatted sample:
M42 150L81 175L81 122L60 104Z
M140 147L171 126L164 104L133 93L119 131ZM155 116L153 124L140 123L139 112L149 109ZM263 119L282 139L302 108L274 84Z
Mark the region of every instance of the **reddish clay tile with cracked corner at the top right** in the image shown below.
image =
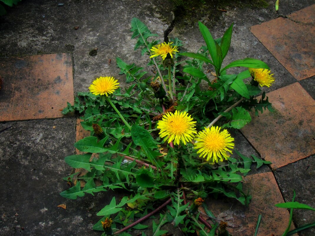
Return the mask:
M288 17L254 25L251 32L295 79L301 81L315 75L315 4Z

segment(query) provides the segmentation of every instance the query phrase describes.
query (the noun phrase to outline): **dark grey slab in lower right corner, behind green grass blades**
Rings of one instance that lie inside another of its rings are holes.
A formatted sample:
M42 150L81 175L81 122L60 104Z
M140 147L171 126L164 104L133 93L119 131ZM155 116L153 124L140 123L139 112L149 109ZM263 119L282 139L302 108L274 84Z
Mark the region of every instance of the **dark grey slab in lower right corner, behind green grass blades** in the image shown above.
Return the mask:
M274 171L282 196L286 202L292 201L293 191L295 201L315 208L315 156L283 166ZM295 209L293 221L300 227L315 221L315 211ZM315 235L315 228L309 228L299 233L300 236Z

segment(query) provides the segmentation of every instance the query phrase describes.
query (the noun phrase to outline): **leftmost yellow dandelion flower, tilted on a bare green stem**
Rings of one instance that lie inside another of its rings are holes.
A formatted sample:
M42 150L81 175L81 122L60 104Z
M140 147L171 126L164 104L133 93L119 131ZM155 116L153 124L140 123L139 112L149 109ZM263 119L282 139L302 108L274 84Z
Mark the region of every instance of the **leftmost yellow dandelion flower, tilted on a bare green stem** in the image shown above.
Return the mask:
M106 95L106 97L113 93L119 86L117 86L117 80L114 77L102 77L96 78L93 84L90 85L89 90L94 95Z

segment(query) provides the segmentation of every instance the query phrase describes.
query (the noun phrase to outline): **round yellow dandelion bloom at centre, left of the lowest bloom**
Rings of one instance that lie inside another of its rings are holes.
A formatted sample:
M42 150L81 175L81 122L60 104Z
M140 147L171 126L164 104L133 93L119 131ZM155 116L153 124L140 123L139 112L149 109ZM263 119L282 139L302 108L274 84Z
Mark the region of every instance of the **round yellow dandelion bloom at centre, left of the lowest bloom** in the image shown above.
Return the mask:
M159 135L164 138L164 142L168 139L168 143L174 141L174 144L179 144L180 141L186 145L186 142L192 141L197 133L195 131L196 121L192 121L192 117L186 111L175 113L168 112L163 115L162 120L157 122L157 128L161 131Z

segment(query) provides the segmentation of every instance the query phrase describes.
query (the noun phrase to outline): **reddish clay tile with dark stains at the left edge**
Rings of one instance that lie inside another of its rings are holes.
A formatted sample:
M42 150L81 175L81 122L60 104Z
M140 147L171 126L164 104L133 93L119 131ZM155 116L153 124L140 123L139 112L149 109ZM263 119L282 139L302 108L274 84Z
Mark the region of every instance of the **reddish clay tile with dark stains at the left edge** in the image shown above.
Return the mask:
M73 104L69 53L0 59L0 121L62 117Z

